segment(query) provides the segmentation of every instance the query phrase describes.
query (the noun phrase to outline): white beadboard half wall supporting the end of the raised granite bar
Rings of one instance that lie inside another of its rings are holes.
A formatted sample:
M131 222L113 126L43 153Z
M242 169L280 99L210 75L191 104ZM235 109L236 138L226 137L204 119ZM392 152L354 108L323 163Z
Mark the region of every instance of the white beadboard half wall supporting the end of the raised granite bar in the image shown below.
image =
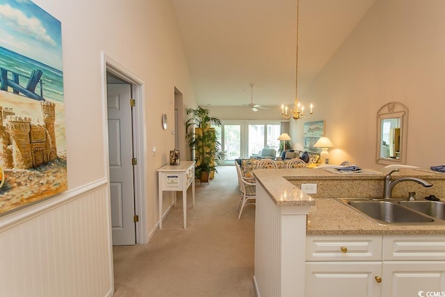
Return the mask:
M254 288L258 297L305 296L307 206L277 206L257 182Z

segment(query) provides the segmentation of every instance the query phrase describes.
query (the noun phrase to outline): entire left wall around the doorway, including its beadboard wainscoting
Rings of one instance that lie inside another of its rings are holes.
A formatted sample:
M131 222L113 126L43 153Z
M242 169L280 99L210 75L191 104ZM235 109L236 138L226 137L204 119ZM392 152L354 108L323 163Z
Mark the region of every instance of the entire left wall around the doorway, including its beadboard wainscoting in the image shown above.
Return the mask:
M8 280L14 281L5 284L8 289L3 288L5 294L11 292L10 296L25 296L14 293L20 290L40 291L45 296L106 296L106 292L109 295L113 289L113 262L108 234L111 223L107 209L105 152L108 148L101 53L103 51L145 83L147 160L138 166L147 168L146 209L143 209L147 216L147 234L155 230L158 222L156 169L168 162L168 152L175 146L171 133L175 87L184 95L184 105L195 106L191 77L170 1L35 0L35 3L62 24L69 190L47 202L0 218L0 242L12 247L0 262L6 260L5 257L23 259L13 264L17 266L17 275L10 273ZM170 119L167 130L161 127L163 113ZM152 156L152 147L157 149L156 156ZM97 184L94 191L90 189L92 184ZM95 197L99 197L100 203L93 203ZM63 199L75 202L65 203ZM49 203L52 203L50 208L47 207ZM57 206L60 204L63 206ZM102 216L94 214L99 212ZM82 216L94 221L88 225L88 232L82 230L85 224L79 224ZM57 240L53 238L58 236L54 234L54 226L65 230ZM97 244L99 237L102 239L100 245ZM40 257L30 259L29 251L24 252L26 249L18 246L14 248L14 244L28 249L31 246L33 251L40 252ZM70 250L66 250L64 244L70 246ZM54 253L54 250L60 252ZM65 255L66 252L70 255ZM83 255L83 259L71 258L77 255ZM95 255L101 257L88 262L88 273L81 261L86 262ZM41 259L45 260L42 266ZM76 268L73 263L79 263L80 267ZM25 279L22 278L24 271L29 271ZM100 280L97 271L102 274ZM40 282L40 275L58 275L54 278L57 287L47 290L46 282ZM58 291L64 288L65 293Z

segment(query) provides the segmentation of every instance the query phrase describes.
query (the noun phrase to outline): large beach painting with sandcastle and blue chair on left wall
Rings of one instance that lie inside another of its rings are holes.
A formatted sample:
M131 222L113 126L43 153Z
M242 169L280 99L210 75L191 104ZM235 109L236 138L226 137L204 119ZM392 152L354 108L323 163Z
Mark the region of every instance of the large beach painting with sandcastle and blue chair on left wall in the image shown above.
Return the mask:
M67 190L62 31L29 0L0 0L0 215Z

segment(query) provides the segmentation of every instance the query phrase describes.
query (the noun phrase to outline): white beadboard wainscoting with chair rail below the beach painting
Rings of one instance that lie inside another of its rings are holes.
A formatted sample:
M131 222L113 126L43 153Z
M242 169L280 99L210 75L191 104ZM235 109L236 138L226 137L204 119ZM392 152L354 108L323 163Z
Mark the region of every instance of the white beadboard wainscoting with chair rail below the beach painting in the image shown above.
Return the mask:
M1 296L112 296L106 179L0 217Z

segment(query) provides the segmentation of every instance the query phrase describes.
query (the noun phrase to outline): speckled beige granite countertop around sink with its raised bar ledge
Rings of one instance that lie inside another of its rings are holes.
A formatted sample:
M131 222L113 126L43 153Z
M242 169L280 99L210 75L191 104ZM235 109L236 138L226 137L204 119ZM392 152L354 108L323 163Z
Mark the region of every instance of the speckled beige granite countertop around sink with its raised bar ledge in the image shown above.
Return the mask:
M383 171L383 170L382 170ZM370 170L360 174L338 174L321 169L262 169L254 170L257 182L265 188L277 206L310 206L307 234L445 234L445 225L380 225L332 198L312 198L300 191L291 179L383 179L385 172ZM416 176L445 179L442 173L410 168L395 172L393 177Z

